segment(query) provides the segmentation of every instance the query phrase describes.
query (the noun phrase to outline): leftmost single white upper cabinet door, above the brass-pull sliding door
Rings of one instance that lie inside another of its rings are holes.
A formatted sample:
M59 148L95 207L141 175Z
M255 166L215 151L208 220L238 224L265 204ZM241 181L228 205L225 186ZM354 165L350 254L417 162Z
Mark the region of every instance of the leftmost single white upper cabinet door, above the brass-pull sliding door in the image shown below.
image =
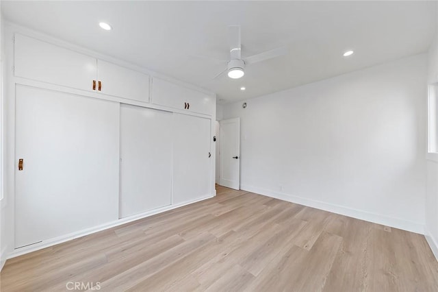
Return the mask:
M21 34L14 44L15 76L92 91L96 58Z

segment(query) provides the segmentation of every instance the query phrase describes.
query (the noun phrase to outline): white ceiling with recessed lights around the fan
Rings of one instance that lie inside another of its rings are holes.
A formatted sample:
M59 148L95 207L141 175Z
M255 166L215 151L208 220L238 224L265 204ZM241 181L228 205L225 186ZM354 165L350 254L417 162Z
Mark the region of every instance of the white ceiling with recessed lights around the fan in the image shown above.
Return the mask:
M433 1L1 2L9 21L201 86L222 102L424 52L436 18ZM227 25L236 24L243 58L283 45L289 53L248 66L240 80L212 80L226 64L192 56L227 60ZM344 58L346 49L355 54Z

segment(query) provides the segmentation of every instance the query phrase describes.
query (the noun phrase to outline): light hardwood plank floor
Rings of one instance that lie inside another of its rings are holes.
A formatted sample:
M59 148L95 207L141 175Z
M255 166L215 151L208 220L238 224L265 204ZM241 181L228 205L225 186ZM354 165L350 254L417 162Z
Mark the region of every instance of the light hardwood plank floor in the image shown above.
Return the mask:
M0 277L1 291L75 282L100 291L438 291L438 263L420 234L220 186L212 199L12 258Z

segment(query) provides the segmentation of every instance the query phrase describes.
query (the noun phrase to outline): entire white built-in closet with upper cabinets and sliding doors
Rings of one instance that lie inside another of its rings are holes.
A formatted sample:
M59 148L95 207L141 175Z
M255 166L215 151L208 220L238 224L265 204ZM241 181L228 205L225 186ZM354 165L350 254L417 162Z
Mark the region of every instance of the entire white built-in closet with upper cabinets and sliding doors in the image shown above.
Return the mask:
M13 46L16 249L213 195L215 97L30 36Z

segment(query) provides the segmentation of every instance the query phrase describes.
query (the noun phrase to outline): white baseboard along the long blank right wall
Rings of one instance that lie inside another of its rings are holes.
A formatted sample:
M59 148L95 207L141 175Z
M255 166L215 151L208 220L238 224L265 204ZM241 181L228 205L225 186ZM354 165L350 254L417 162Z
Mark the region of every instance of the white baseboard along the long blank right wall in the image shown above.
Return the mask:
M373 212L367 212L364 210L358 210L354 208L348 208L336 204L321 202L315 199L307 199L305 197L298 197L296 195L289 195L286 193L270 191L263 188L257 188L256 186L248 186L246 184L241 184L240 188L244 191L248 191L251 193L266 195L268 197L274 197L276 199L281 199L283 201L309 206L312 208L333 212L339 215L370 221L372 223L378 223L384 226L407 230L410 232L424 234L424 225L422 223L407 221L400 218L388 217L386 215L376 214Z

